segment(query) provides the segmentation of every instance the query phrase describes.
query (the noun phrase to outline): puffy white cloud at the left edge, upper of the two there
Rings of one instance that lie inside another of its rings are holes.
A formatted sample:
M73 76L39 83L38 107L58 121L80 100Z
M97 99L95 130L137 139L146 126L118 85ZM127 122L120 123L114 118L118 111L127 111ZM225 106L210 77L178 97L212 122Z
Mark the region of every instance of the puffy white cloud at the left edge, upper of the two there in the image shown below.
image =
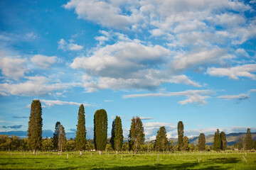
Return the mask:
M0 59L1 73L6 77L18 80L24 76L28 69L26 68L26 58L7 58Z

